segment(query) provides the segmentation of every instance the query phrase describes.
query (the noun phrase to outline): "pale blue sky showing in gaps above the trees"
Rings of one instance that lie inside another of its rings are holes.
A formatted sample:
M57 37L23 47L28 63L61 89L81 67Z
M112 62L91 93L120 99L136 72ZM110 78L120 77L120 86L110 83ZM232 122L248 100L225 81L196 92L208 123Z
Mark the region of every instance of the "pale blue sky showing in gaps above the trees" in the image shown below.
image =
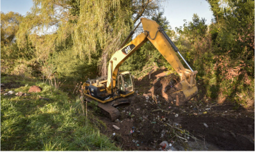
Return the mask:
M206 24L211 24L212 12L205 0L167 0L162 5L164 16L173 30L175 27L182 26L183 20L191 21L194 13L197 13L200 18L205 18ZM32 0L1 0L1 11L4 13L14 11L26 15L31 6L33 6Z

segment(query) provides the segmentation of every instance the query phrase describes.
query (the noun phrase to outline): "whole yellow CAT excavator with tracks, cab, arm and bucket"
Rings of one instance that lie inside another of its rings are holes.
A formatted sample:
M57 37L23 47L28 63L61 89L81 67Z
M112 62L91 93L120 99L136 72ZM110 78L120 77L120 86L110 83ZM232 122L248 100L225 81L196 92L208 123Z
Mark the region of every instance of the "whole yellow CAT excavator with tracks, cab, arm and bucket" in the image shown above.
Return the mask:
M125 45L140 24L143 25L143 32ZM186 102L198 93L195 79L197 71L191 69L163 28L156 21L147 18L141 18L140 24L127 36L120 46L120 50L111 57L108 65L108 78L102 76L97 79L89 79L82 86L84 99L87 101L97 100L98 106L103 110L102 112L109 116L112 121L120 116L115 106L129 102L127 96L132 95L135 91L134 78L131 73L129 71L120 72L119 67L148 40L180 76L180 82L172 88L171 98L173 100L179 98L179 101ZM175 52L180 55L189 69L184 68Z

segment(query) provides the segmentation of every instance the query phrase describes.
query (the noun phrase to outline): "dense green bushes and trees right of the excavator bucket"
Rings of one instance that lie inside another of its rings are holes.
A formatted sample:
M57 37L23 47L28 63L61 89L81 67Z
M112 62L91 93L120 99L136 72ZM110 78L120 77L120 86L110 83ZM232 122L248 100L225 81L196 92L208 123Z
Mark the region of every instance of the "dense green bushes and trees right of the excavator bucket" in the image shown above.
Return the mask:
M253 106L254 100L254 1L208 1L214 24L193 15L175 44L197 77L203 78L207 97ZM241 98L243 97L243 98Z

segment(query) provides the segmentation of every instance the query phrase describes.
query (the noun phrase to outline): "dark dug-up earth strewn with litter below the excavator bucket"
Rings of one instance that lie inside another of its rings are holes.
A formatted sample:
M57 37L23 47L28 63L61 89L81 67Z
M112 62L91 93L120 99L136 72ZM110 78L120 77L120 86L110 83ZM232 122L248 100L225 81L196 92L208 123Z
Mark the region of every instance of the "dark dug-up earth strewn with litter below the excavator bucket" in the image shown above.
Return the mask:
M172 101L164 99L160 90L169 87L170 83L175 85L177 81L179 79L175 75L166 76L166 69L152 73L151 79L148 76L136 79L138 95L132 97L129 106L117 107L121 113L120 119L111 122L99 116L106 123L106 128L102 127L101 132L123 150L159 151L162 141L171 143L172 150L178 151L255 149L254 110L235 107L228 102L216 104L215 100L206 99L200 80L197 82L201 84L198 90L202 91L186 104L175 106ZM152 93L152 90L155 91ZM116 130L113 125L120 130ZM170 125L183 131L173 129ZM184 131L196 139L188 139ZM185 138L188 142L185 142Z

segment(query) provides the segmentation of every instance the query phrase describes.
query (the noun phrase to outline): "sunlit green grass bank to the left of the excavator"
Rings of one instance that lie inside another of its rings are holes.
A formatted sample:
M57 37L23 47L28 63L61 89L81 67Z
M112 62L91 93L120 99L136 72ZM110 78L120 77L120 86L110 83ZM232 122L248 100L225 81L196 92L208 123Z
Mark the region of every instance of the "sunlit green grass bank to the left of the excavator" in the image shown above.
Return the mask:
M12 77L1 78L1 83L10 79ZM31 85L38 85L43 91L24 97L1 95L1 150L121 150L106 135L100 134L94 125L98 120L86 122L80 100L68 99L67 93L54 91L53 87L35 79L22 81L20 84L24 86L10 90L27 93ZM50 100L39 99L39 95Z

